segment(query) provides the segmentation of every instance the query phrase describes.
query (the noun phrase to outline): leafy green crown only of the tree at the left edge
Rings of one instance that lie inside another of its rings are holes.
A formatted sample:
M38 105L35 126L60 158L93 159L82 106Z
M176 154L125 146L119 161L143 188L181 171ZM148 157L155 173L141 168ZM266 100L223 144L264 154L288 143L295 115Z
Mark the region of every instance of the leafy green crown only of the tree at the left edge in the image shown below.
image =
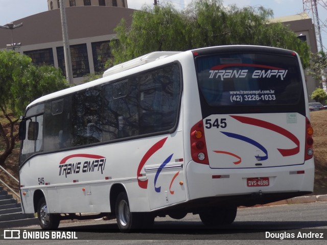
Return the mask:
M61 71L53 66L35 66L31 58L12 51L0 51L0 106L16 116L38 97L67 88Z

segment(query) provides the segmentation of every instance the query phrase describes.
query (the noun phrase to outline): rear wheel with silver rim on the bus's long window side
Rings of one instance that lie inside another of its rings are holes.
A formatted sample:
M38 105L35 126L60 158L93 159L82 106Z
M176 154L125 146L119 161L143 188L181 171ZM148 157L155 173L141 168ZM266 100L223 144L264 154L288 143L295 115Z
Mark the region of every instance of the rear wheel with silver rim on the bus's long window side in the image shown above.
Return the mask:
M116 220L121 232L131 232L142 228L142 213L131 212L126 192L119 193L116 199Z

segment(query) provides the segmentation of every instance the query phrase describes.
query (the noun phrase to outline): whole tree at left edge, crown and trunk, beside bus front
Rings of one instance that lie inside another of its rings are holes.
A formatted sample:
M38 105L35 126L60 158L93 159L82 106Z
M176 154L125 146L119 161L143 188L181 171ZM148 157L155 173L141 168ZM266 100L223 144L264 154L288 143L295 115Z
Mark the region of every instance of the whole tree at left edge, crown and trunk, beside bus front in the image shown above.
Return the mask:
M17 122L26 106L38 97L68 87L61 71L35 66L31 58L13 51L0 51L0 165L15 147Z

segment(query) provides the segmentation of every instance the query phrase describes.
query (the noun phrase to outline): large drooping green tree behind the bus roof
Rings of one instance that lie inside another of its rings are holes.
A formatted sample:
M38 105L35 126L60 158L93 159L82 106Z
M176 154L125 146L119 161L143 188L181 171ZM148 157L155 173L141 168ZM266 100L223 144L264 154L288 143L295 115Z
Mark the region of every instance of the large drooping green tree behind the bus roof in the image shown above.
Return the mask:
M220 0L195 0L185 10L170 4L135 11L131 26L123 19L110 42L114 64L154 51L253 44L296 51L303 67L309 64L309 47L282 23L270 21L273 12L263 7L223 6Z

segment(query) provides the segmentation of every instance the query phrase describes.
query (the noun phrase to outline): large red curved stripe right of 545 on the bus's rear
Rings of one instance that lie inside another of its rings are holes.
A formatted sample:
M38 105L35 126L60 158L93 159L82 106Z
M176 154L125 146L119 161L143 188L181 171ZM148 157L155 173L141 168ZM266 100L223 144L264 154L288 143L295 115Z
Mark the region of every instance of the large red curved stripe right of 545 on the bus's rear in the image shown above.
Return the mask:
M292 140L295 144L296 147L292 149L278 149L277 150L282 154L282 156L287 157L287 156L292 156L300 151L300 141L298 138L295 137L294 134L291 132L287 131L286 129L283 129L275 124L271 124L268 121L263 121L260 119L255 119L255 118L250 118L250 117L245 117L245 116L231 116L232 118L235 118L236 120L243 122L244 124L250 124L253 126L258 126L261 128L269 129L272 130L278 134L281 134L290 140Z

